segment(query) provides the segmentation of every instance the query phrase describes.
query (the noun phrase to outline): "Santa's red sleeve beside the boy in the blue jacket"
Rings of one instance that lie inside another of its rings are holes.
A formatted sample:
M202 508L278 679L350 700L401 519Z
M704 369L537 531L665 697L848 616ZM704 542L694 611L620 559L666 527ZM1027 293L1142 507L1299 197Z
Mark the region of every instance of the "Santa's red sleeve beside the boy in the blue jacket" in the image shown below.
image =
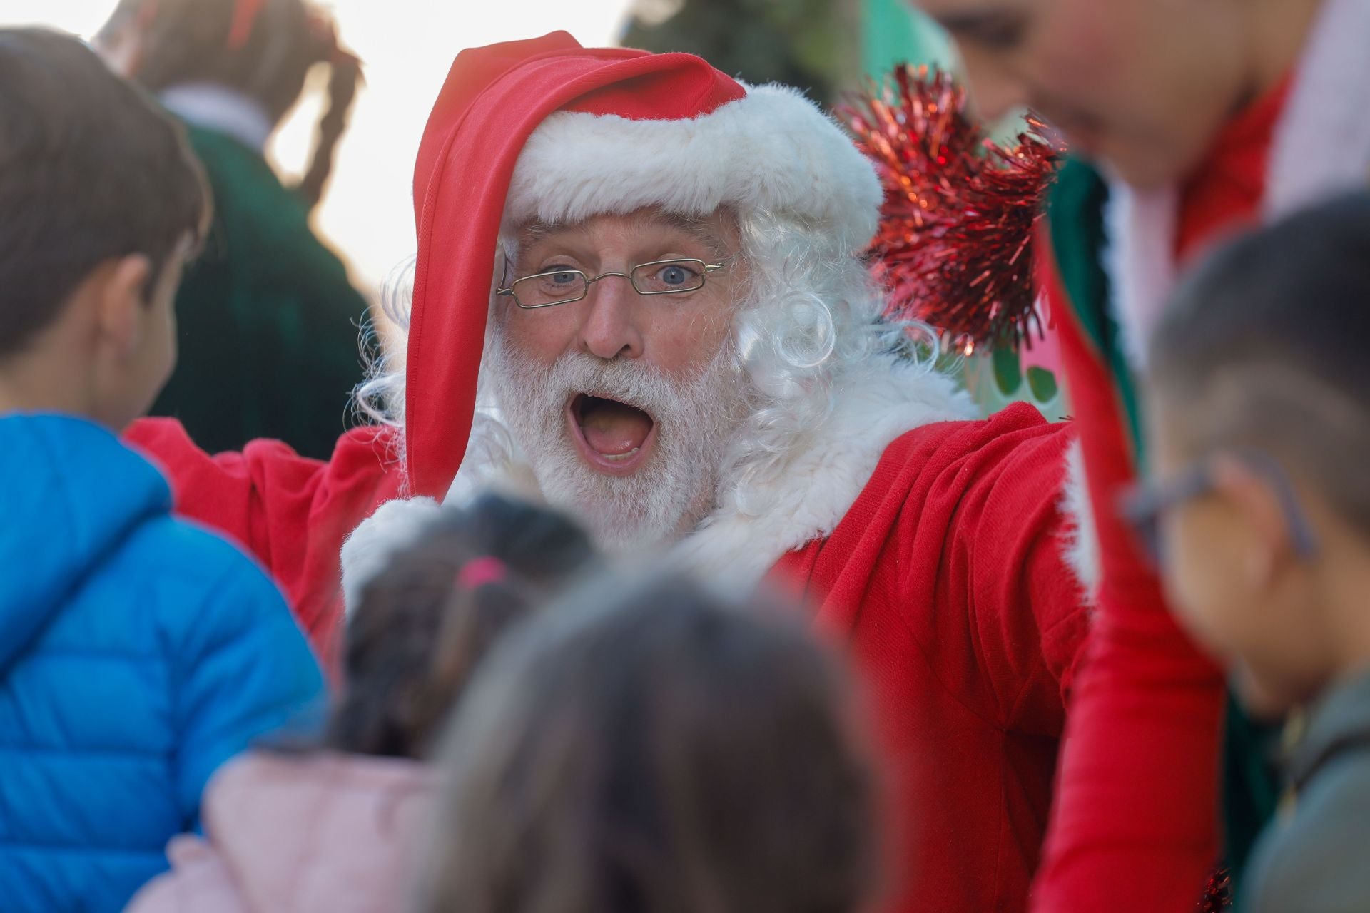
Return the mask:
M384 437L355 428L338 438L327 463L279 441L210 456L173 419L136 422L126 439L166 472L181 516L226 534L266 565L327 661L341 617L342 541L397 494Z

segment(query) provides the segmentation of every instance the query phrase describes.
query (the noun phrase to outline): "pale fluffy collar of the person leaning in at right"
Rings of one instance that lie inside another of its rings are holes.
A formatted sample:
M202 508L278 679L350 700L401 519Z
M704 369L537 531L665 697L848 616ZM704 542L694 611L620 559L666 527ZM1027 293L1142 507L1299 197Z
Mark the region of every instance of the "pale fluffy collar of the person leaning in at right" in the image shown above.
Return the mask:
M1277 219L1337 190L1366 183L1370 168L1370 0L1323 0L1270 149L1262 216ZM1175 189L1137 193L1110 182L1111 308L1123 352L1145 367L1145 341L1175 282Z

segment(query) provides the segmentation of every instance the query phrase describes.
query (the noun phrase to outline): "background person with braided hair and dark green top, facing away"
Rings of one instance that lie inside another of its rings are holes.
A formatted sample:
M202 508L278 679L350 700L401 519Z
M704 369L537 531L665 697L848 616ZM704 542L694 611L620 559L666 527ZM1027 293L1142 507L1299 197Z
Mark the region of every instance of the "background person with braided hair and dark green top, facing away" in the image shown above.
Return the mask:
M362 81L304 0L121 0L96 37L119 73L186 123L214 190L206 249L177 293L181 363L152 415L215 450L278 438L327 456L362 381L367 303L310 227ZM266 145L316 66L329 68L314 156L284 186Z

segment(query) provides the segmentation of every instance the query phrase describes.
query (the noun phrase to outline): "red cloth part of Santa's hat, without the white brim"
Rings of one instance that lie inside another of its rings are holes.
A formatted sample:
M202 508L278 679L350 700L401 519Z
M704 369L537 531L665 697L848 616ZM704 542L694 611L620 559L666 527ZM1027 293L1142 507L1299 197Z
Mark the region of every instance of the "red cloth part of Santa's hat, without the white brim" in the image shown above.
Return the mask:
M419 245L404 408L415 494L443 497L466 452L504 198L537 125L560 108L693 118L744 94L700 57L582 48L564 31L458 55L414 168Z

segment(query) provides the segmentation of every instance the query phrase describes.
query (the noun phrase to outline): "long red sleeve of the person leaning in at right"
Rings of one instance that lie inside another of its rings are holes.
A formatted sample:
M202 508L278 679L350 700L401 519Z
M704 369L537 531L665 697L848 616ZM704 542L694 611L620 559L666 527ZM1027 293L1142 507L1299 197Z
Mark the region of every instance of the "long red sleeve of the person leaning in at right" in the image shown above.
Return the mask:
M1032 909L1192 913L1218 857L1223 678L1167 612L1112 508L1133 475L1123 413L1054 267L1044 278L1089 478L1101 583Z

